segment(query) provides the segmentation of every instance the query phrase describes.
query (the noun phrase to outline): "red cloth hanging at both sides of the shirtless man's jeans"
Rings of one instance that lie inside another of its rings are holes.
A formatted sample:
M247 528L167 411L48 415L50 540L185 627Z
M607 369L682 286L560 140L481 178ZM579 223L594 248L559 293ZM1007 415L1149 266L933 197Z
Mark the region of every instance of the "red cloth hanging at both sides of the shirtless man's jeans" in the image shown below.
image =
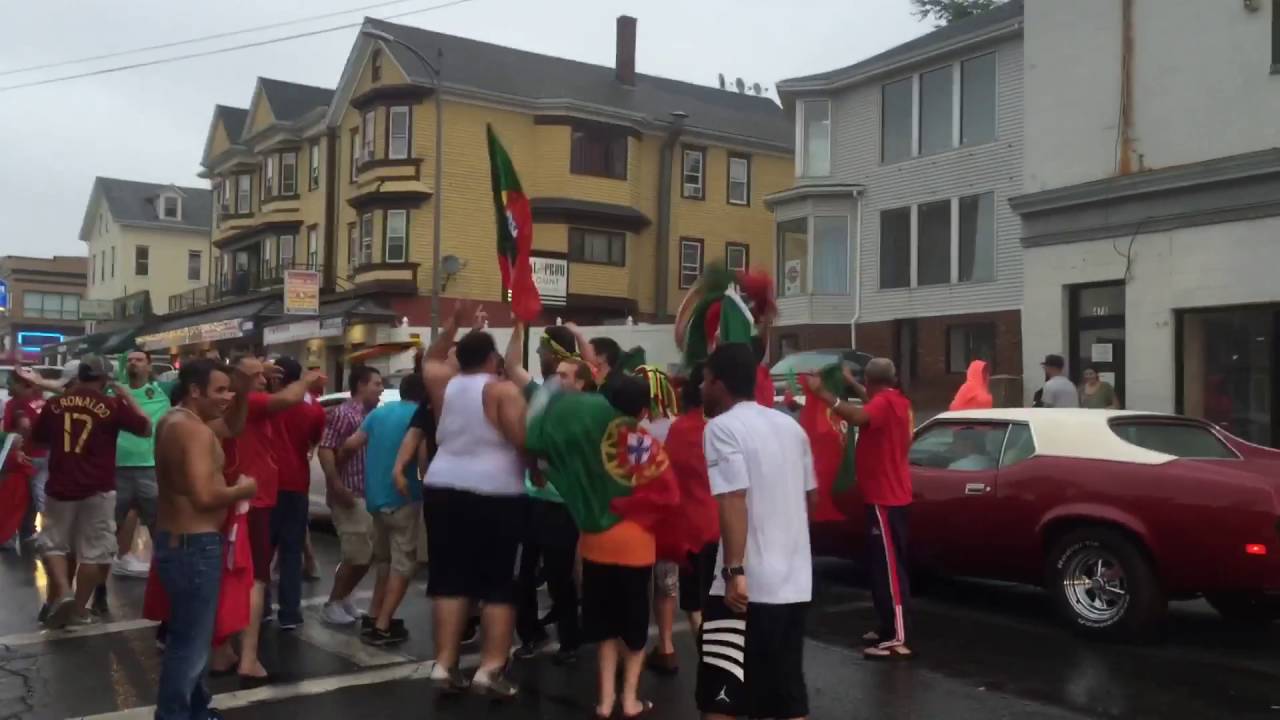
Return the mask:
M223 530L223 579L218 589L218 616L212 644L218 647L248 626L248 593L253 588L253 555L248 546L248 514L234 512ZM169 619L169 596L151 561L142 616L164 623Z

